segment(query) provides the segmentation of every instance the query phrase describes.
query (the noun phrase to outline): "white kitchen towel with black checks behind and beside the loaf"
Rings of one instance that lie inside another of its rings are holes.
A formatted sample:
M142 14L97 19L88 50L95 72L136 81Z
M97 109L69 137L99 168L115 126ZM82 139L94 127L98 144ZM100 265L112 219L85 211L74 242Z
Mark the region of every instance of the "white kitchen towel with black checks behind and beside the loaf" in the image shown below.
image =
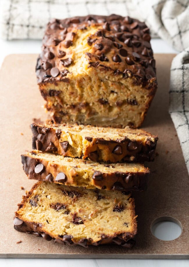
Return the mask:
M180 51L173 60L170 115L189 172L189 1L188 0L4 0L3 39L41 39L51 18L88 14L129 15L145 21L152 37L159 36Z

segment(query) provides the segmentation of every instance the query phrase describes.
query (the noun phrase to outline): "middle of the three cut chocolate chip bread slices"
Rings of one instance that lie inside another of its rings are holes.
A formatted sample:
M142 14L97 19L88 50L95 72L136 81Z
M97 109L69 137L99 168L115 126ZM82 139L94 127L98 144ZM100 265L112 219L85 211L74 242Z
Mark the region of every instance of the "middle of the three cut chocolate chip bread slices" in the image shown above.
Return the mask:
M106 190L146 190L149 169L140 163L104 164L33 150L22 155L29 179Z

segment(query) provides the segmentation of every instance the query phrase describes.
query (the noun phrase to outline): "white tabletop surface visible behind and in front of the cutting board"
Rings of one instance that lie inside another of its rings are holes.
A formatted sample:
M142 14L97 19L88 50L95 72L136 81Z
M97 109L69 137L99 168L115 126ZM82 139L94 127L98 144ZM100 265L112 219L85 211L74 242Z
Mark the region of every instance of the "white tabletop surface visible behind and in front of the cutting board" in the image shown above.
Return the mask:
M176 53L168 44L159 39L151 41L154 53ZM15 53L39 53L41 41L40 40L14 40L4 41L0 40L0 66L3 59L8 54ZM165 230L166 232L166 230ZM54 265L58 266L90 266L90 267L101 267L101 266L137 266L148 267L148 266L166 266L166 267L186 267L189 266L188 260L135 260L135 259L0 259L0 266L27 266L27 267L50 267Z

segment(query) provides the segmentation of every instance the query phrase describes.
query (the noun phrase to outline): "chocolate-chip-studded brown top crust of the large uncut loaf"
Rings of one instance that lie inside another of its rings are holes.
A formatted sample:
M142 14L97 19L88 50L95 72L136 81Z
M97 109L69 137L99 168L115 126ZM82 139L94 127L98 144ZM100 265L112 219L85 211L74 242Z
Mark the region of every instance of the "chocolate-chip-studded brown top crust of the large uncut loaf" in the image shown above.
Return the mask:
M156 69L149 28L119 15L52 19L42 42L38 83L69 82L71 73L98 68L132 78L135 85L156 87Z

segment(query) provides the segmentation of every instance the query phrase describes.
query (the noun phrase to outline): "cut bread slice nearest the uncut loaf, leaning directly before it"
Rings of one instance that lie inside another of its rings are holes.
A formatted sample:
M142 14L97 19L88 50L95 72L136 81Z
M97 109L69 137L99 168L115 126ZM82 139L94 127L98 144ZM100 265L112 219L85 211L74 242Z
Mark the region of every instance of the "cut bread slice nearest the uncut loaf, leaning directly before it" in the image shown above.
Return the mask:
M32 148L103 162L154 160L157 136L131 128L31 124Z

